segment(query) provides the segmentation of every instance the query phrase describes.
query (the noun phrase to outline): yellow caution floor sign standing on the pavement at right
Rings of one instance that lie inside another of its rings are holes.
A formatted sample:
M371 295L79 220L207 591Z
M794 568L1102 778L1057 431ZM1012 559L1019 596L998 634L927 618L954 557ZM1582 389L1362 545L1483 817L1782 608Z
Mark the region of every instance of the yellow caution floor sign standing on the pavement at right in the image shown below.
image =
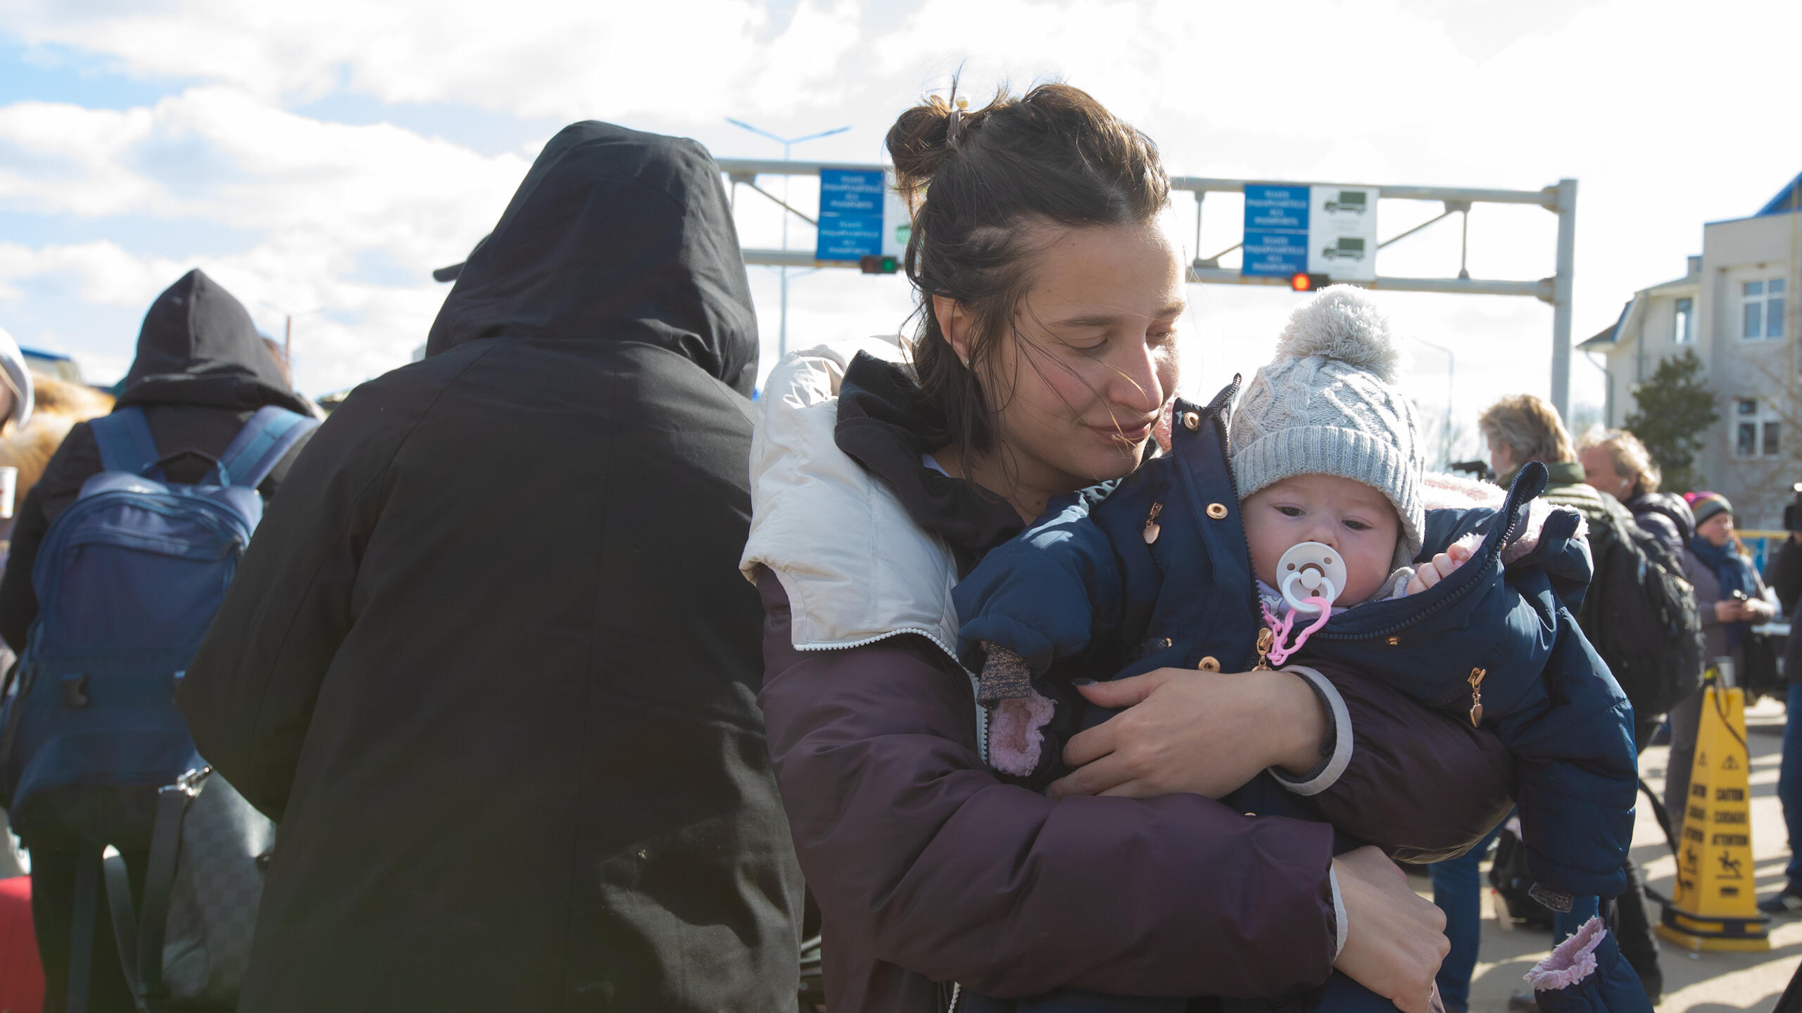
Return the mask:
M1690 768L1678 890L1658 934L1690 950L1770 950L1752 871L1746 694L1708 669Z

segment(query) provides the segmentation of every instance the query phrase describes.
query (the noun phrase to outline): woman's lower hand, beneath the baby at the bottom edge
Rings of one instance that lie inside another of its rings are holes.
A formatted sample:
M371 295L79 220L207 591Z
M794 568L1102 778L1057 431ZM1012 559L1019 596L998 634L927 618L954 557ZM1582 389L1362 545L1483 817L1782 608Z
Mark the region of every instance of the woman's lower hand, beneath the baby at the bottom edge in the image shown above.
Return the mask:
M1451 952L1445 912L1422 899L1375 847L1333 858L1333 872L1346 905L1346 945L1333 966L1402 1013L1427 1013L1433 977Z

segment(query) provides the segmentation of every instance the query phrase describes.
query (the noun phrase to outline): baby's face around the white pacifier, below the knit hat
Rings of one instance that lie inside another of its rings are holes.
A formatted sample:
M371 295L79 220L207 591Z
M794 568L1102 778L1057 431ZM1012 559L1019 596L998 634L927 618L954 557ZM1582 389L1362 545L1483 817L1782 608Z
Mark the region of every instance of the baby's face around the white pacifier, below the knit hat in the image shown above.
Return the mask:
M1335 606L1355 606L1382 589L1395 562L1402 519L1389 497L1350 478L1297 474L1260 488L1240 505L1251 566L1276 588L1276 561L1301 543L1321 543L1346 564L1346 589Z

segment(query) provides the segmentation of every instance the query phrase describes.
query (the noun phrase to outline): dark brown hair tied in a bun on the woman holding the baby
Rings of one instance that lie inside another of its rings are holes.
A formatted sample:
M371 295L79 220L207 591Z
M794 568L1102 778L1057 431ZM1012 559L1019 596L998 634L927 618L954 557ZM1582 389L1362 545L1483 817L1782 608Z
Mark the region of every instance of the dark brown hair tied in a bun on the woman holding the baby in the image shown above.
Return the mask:
M888 155L914 209L906 276L919 294L912 359L924 398L942 420L935 445L962 460L997 445L995 391L978 375L995 342L1015 332L1031 288L1043 227L1137 225L1169 204L1157 146L1088 92L1063 83L1020 97L1006 87L982 108L939 96L901 114ZM969 366L939 330L933 296L971 314Z

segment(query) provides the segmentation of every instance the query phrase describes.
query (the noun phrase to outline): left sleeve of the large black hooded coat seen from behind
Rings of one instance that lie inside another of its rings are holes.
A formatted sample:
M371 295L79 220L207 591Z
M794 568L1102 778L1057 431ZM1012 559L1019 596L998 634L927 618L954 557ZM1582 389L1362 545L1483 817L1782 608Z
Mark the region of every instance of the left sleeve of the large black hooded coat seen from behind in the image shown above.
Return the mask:
M402 433L350 402L287 470L177 698L195 746L281 820L319 685L355 618L357 568Z

